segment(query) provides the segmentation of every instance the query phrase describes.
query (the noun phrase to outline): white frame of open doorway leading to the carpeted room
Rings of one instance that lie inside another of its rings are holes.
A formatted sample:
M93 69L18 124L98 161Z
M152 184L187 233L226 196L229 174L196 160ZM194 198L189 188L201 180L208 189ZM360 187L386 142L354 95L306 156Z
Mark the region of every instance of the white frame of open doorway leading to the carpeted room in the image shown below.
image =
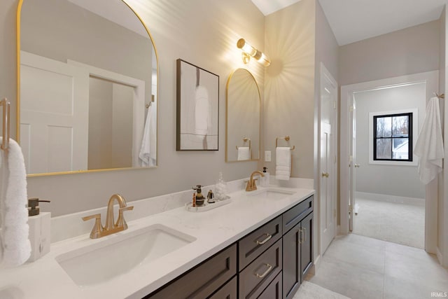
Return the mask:
M355 83L341 86L341 127L340 127L340 228L341 234L349 233L349 167L351 166L349 148L351 146L350 108L353 93L372 90L391 85L426 82L426 99L433 97L439 85L439 71L427 71L418 74L385 78L381 80ZM435 194L435 197L434 197ZM431 198L431 200L428 200ZM426 186L425 200L425 250L429 253L437 251L437 183Z

